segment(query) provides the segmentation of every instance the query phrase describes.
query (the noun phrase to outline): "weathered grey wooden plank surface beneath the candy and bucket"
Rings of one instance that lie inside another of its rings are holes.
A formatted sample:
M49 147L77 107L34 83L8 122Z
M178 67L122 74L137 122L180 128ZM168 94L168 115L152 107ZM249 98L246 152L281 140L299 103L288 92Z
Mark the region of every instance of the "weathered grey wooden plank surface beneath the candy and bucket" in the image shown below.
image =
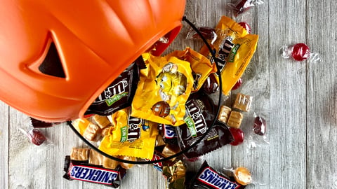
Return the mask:
M214 27L221 15L230 15L229 0L187 0L185 15L198 25ZM234 2L234 0L233 0ZM259 35L256 54L237 92L253 96L253 109L244 114L246 141L204 155L216 169L244 166L256 185L246 188L337 188L337 76L336 16L333 0L265 1L234 18L248 22ZM169 47L199 50L200 41L185 40L188 27ZM295 62L280 57L279 48L307 43L321 61ZM251 144L253 113L267 118L267 143ZM48 146L34 146L18 130L27 116L0 103L0 186L4 188L105 188L62 178L65 155L73 146L85 146L65 124L43 129ZM202 161L190 164L197 170ZM165 188L165 179L151 166L128 170L119 188Z

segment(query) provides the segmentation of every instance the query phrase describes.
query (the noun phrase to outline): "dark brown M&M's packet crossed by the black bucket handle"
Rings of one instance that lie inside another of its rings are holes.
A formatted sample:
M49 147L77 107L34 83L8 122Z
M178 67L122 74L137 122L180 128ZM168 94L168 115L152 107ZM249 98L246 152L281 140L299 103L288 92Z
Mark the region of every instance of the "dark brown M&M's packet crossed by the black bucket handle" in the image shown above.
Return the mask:
M185 124L176 127L180 150L190 147L211 127L216 114L216 105L206 94L200 92L191 94L186 103ZM187 158L197 158L201 155L230 144L232 134L224 123L216 122L199 144L184 153Z

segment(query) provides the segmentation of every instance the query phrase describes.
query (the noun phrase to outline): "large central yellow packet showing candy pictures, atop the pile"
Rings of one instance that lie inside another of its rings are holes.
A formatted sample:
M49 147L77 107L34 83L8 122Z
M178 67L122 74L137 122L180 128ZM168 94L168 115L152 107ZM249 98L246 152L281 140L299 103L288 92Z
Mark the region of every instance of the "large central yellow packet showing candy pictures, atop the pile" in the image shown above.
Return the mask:
M190 62L149 53L144 53L143 59L147 68L140 70L131 116L155 123L182 125L185 103L193 85Z

